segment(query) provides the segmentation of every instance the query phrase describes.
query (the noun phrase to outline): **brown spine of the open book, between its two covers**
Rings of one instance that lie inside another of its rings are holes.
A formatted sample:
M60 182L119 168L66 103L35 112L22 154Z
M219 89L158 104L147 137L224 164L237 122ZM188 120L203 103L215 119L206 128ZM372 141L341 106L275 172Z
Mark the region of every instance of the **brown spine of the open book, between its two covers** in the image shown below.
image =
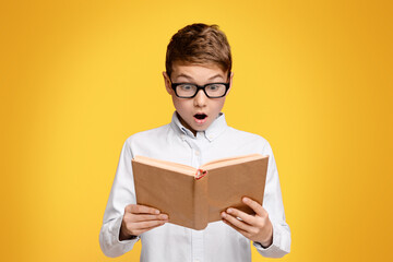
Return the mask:
M209 223L209 176L194 180L194 229L201 230Z

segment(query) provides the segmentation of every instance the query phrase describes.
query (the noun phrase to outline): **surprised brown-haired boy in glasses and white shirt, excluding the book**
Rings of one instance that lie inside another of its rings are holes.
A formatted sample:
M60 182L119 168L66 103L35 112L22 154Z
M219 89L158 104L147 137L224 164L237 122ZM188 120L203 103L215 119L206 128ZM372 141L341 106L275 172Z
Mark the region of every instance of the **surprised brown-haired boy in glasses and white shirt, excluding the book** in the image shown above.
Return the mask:
M139 239L141 261L251 261L250 241L263 257L289 252L290 231L272 148L263 138L228 127L221 112L231 88L230 70L230 47L216 25L192 24L172 36L163 75L176 111L169 124L133 134L123 144L99 234L106 255L121 255ZM135 204L135 155L198 168L216 158L252 153L270 155L263 207L242 200L254 216L228 206L223 221L193 230L170 224L158 210Z

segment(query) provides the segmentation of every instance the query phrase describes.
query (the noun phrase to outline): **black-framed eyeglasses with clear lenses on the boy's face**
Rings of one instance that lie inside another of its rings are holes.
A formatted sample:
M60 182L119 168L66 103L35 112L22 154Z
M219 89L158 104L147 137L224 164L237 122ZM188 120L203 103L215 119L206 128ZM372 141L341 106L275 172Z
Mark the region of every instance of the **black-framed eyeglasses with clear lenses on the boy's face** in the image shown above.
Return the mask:
M205 93L209 98L219 98L228 92L229 83L209 83L205 85L171 83L171 87L176 96L180 98L192 98L200 90L203 90L203 93Z

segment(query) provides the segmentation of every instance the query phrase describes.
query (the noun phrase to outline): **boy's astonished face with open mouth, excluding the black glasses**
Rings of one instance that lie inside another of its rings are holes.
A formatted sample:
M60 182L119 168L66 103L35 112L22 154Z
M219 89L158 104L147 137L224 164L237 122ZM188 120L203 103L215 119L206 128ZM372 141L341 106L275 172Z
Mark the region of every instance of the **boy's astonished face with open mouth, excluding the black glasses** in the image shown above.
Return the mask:
M228 79L227 72L224 72L217 66L200 66L200 64L182 64L174 63L171 82L166 72L163 72L165 86L169 95L172 97L174 106L176 111L180 116L180 122L188 128L193 134L196 131L206 130L214 119L218 116L223 109L225 98L209 98L202 90L192 98L180 98L177 97L175 91L171 88L170 83L190 83L198 85L205 85L209 83L228 83L234 74L231 73ZM230 87L227 92L227 95Z

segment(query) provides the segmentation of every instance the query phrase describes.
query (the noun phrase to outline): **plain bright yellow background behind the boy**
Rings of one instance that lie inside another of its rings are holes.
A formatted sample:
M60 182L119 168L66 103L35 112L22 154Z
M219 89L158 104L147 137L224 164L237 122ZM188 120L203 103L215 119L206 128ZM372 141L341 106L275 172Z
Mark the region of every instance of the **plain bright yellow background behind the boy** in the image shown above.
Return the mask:
M111 260L98 233L131 134L166 124L166 46L227 34L229 126L275 153L291 252L392 261L391 1L1 1L1 261ZM255 251L253 261L264 261Z

